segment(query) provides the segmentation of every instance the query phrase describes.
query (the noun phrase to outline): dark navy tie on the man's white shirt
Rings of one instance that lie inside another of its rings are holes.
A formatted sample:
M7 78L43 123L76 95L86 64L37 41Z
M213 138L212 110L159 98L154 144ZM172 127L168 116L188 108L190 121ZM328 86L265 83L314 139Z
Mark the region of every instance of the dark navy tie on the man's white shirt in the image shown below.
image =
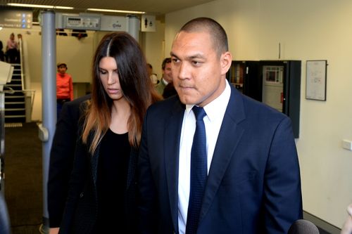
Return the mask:
M196 105L192 108L196 115L196 132L191 149L191 186L187 212L186 234L195 234L198 228L199 213L207 178L206 127L203 117L206 112Z

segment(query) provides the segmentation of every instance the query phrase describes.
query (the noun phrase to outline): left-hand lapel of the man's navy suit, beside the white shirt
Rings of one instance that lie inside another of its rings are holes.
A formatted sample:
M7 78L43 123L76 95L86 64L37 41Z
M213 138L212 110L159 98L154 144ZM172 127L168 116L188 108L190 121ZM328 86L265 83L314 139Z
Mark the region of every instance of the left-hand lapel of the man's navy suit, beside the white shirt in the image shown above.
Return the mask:
M172 223L175 230L178 226L178 169L180 154L180 135L182 129L182 121L184 117L184 105L177 102L172 108L172 114L167 122L165 122L164 131L164 157L166 180L168 183L168 192L170 198L170 210Z

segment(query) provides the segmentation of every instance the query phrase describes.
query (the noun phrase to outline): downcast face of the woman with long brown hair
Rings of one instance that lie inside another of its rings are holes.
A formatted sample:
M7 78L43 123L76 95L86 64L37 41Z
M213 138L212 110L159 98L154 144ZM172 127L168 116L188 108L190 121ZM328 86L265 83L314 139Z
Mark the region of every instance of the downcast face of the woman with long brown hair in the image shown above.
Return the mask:
M99 79L108 96L113 100L123 98L115 58L103 57L99 62Z

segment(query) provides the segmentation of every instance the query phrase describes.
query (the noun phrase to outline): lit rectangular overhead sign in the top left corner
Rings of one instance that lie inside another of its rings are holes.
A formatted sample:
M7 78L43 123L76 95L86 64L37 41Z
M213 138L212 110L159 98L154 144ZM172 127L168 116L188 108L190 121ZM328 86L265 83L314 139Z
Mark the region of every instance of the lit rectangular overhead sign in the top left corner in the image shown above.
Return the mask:
M0 27L32 28L31 11L0 10Z

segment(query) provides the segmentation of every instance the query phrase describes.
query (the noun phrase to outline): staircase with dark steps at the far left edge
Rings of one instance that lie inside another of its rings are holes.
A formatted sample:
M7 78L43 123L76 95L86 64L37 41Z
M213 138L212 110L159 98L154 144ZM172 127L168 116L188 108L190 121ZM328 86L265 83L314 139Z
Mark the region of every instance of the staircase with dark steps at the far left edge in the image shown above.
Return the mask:
M25 122L25 93L21 78L20 64L12 64L14 67L10 83L4 86L5 92L5 123Z

